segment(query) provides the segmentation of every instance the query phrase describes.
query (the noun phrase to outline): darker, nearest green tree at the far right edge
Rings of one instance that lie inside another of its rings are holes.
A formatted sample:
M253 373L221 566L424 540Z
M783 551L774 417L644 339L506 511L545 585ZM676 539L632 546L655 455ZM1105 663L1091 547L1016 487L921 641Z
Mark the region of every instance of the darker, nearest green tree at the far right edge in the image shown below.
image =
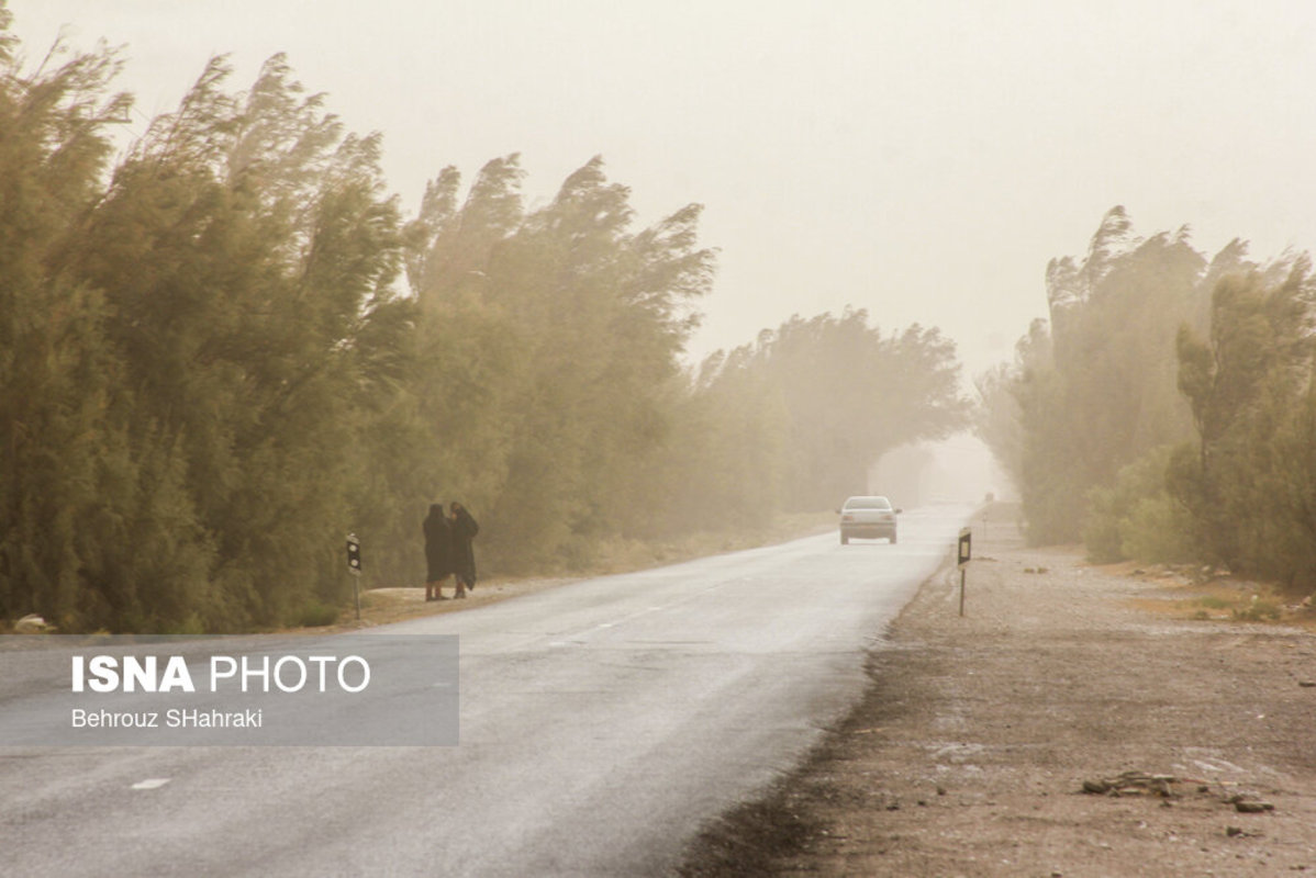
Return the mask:
M1316 584L1316 397L1305 258L1223 277L1205 339L1178 336L1195 448L1171 493L1199 555L1294 588Z

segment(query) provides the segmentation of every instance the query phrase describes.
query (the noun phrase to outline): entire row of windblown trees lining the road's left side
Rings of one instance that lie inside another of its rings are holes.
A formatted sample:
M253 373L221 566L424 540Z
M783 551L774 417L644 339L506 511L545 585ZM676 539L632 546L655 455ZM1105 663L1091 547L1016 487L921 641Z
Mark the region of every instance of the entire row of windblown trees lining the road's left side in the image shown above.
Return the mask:
M965 422L953 346L795 318L687 375L699 205L636 227L600 159L526 209L517 156L404 221L378 135L282 55L224 58L111 167L112 53L17 68L0 0L0 618L64 631L326 624L418 584L429 503L486 570L830 507ZM409 285L403 292L400 287ZM619 548L621 547L621 548Z

